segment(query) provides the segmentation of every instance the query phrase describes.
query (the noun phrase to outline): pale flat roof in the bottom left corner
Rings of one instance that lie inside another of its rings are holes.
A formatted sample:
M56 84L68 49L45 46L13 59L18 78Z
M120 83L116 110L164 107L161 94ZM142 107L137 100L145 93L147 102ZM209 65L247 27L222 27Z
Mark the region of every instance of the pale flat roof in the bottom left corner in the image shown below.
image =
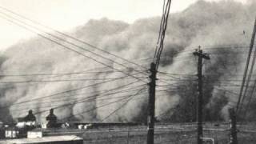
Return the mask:
M47 136L42 138L20 138L0 141L1 144L83 144L76 135Z

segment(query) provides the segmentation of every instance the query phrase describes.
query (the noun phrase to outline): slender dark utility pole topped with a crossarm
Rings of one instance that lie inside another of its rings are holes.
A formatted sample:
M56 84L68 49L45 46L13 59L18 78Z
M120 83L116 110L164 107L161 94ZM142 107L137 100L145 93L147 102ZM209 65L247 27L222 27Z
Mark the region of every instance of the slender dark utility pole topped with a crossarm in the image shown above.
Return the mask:
M202 144L202 58L210 59L210 57L202 53L200 46L193 54L198 57L198 144Z

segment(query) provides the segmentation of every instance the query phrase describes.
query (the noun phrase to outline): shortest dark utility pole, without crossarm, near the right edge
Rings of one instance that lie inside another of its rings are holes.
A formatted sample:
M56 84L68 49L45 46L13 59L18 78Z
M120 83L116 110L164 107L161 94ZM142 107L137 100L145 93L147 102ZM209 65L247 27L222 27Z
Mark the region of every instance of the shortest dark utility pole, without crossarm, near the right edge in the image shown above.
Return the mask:
M234 108L231 108L229 112L230 112L230 144L238 144L236 113L234 111Z

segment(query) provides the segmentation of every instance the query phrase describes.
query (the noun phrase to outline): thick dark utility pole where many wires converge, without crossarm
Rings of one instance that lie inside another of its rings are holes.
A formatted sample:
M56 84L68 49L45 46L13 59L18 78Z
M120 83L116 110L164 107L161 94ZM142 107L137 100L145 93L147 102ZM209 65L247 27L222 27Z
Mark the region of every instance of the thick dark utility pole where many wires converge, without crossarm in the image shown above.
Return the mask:
M150 90L149 90L149 104L148 104L148 118L147 118L147 144L154 144L154 107L155 107L155 81L156 81L156 65L154 62L150 65Z

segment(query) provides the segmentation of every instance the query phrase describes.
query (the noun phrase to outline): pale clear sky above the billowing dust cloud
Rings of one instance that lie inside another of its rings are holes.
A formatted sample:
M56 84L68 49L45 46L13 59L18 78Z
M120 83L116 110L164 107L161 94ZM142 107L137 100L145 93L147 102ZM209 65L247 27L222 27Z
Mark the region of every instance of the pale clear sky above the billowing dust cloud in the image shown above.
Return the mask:
M173 0L171 12L185 10L198 0ZM222 0L206 0L222 1ZM246 0L234 0L246 2ZM163 0L0 0L0 6L56 30L71 30L94 18L109 18L132 23L138 18L162 14ZM0 9L0 12L5 12ZM34 34L1 18L0 51Z

